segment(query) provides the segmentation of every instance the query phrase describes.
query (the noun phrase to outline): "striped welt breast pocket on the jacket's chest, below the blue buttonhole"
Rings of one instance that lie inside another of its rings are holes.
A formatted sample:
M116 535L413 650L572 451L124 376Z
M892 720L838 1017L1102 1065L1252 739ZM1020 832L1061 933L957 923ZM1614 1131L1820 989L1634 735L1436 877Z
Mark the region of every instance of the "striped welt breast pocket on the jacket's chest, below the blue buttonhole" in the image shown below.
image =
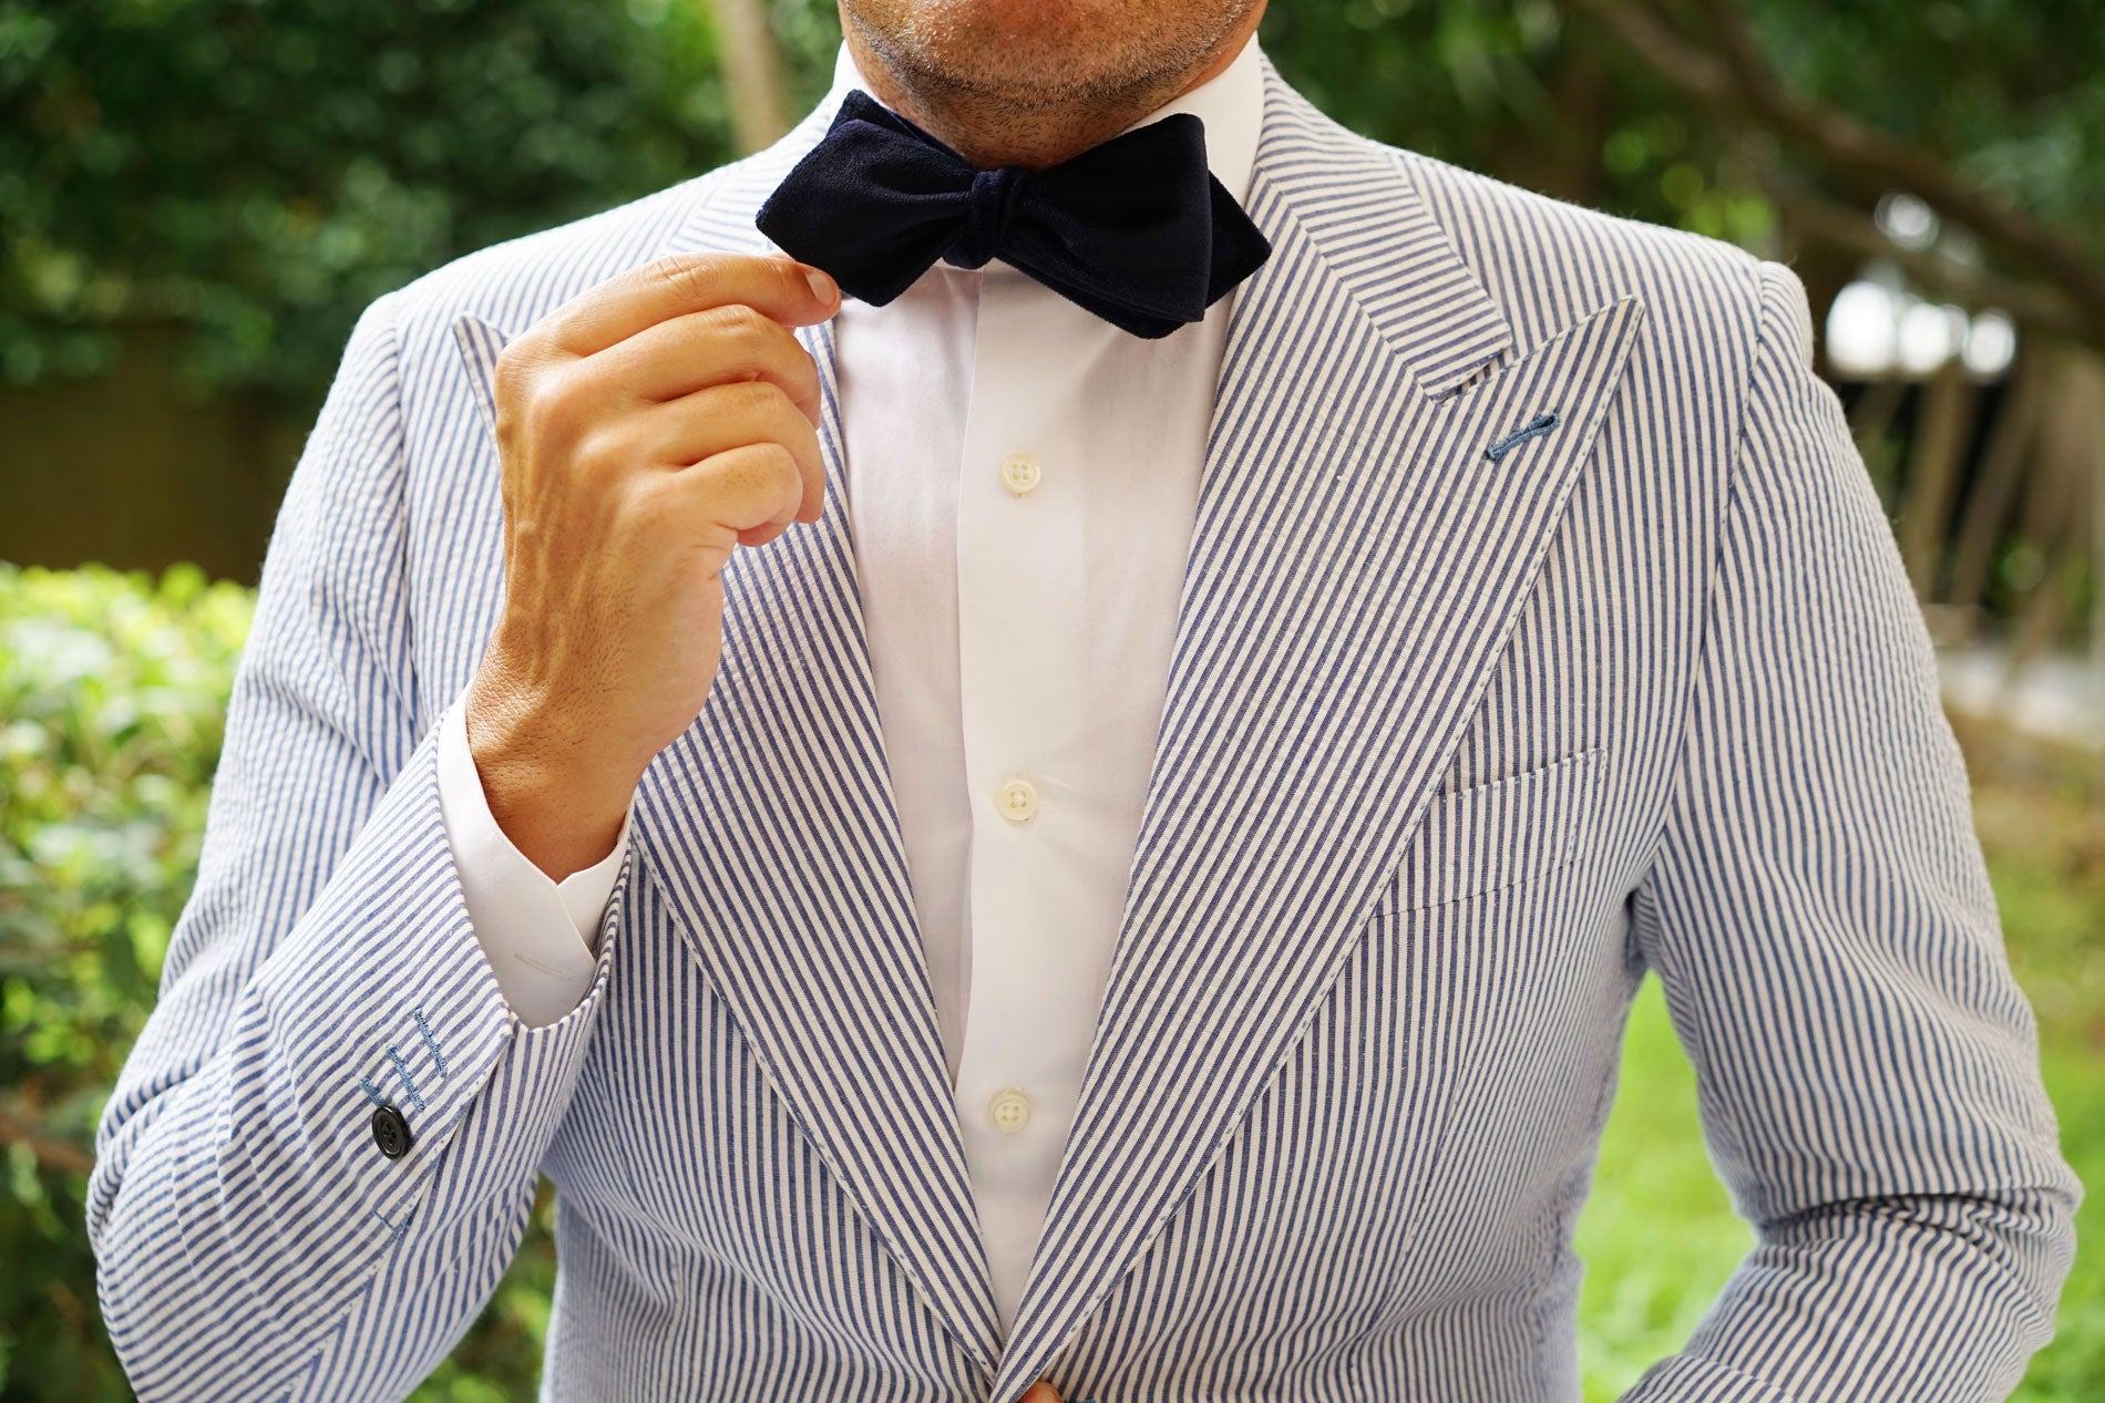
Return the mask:
M1436 795L1377 911L1419 911L1547 877L1577 852L1608 747Z

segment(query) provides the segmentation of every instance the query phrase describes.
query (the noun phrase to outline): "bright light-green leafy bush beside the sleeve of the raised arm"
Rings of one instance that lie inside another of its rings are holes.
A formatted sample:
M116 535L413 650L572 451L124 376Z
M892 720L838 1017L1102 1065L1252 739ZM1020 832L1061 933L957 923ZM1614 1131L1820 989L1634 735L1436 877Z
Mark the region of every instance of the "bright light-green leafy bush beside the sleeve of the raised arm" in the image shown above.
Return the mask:
M194 566L0 562L0 1397L128 1399L84 1220L95 1119L198 877L255 597ZM533 1395L556 1254L520 1256L423 1403Z

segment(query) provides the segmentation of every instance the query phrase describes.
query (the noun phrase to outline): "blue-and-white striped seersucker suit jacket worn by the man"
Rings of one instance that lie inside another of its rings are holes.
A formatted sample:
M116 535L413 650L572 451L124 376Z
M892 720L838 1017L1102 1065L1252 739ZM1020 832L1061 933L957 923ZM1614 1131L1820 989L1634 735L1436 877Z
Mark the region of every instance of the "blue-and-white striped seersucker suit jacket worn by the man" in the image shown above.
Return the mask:
M2002 1397L2080 1188L1802 284L1360 139L1269 63L1274 255L1008 1338L823 326L825 517L724 570L722 671L644 776L589 995L509 1014L434 770L501 602L497 351L657 255L766 250L823 118L358 322L101 1127L139 1395L406 1395L545 1174L545 1399L1577 1399L1570 1228L1652 972L1758 1245L1631 1397Z

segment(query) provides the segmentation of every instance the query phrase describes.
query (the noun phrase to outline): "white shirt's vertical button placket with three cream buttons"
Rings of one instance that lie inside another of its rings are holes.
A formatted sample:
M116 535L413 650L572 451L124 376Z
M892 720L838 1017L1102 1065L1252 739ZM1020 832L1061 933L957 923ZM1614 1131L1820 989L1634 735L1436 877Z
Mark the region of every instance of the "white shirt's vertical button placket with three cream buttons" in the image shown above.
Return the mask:
M970 999L958 1119L998 1296L1015 1298L1052 1193L1095 1005L1076 1003L1088 795L1065 753L1082 705L1086 503L1069 303L989 265L958 477L958 660L973 808Z

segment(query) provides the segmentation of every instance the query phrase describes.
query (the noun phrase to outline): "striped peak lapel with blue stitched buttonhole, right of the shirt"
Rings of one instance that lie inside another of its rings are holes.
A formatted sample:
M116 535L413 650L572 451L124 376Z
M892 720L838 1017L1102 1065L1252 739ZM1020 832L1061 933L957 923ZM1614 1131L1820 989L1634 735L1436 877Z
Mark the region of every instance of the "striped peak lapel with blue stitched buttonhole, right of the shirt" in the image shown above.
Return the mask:
M1623 299L1486 370L1507 322L1396 160L1265 78L1274 255L1234 311L1111 982L996 1399L1048 1374L1349 957L1642 320Z

